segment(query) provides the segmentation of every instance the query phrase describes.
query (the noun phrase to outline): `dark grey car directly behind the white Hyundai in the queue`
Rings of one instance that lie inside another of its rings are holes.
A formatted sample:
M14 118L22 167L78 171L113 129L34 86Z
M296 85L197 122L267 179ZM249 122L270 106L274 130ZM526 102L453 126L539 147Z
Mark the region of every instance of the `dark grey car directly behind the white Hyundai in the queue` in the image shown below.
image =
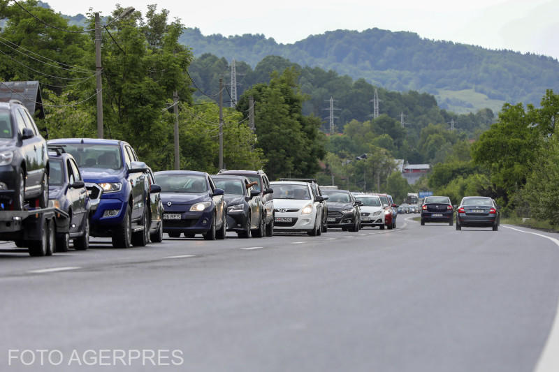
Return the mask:
M363 204L346 190L323 190L328 196L328 228L342 228L344 231L359 231L361 229L361 209Z

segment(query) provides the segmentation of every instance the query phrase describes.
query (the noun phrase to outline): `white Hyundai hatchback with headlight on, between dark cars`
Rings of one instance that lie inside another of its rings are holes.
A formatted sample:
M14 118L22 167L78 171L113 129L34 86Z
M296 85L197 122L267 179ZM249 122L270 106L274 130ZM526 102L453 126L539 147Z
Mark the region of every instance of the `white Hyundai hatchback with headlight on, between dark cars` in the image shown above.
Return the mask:
M274 190L274 231L321 235L322 197L314 196L308 182L270 182Z

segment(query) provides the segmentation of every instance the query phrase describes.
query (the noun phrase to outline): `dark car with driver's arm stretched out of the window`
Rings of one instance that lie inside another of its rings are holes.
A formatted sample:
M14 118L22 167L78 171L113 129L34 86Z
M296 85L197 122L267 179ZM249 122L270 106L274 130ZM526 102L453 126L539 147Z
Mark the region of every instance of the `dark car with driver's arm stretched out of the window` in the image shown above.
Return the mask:
M240 238L266 236L266 217L260 190L244 176L212 176L217 188L225 191L227 231Z

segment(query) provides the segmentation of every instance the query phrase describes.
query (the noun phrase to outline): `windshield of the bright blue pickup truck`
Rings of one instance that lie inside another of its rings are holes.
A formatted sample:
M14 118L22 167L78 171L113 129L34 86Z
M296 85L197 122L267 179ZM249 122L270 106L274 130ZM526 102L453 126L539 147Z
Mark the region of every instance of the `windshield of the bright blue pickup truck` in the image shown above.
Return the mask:
M118 144L65 144L64 150L75 158L79 168L122 169Z

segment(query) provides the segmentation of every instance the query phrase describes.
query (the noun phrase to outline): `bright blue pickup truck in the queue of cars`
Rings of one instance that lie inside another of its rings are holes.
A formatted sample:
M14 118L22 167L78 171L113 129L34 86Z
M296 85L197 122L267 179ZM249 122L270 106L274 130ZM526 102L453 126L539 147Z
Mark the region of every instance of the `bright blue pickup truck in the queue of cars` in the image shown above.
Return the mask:
M150 241L151 190L147 165L138 161L136 151L124 141L94 138L48 144L64 146L80 167L92 204L90 235L112 238L115 248L145 246Z

